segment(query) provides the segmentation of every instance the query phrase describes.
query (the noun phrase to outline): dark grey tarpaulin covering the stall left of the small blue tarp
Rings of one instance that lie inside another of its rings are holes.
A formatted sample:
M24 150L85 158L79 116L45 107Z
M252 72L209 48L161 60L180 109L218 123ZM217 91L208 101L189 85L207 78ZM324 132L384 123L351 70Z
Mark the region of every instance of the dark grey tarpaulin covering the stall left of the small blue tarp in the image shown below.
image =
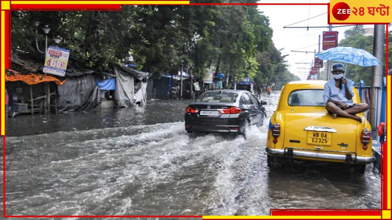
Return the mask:
M58 94L62 112L89 110L101 103L101 93L92 74L68 78L58 86Z

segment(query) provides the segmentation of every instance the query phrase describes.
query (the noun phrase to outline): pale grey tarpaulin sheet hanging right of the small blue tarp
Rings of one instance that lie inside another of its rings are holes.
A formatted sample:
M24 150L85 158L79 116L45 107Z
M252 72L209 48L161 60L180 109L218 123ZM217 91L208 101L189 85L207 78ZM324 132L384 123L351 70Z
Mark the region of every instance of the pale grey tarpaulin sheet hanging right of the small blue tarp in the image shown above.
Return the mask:
M116 74L116 93L114 99L116 105L119 107L132 106L134 97L133 76L122 71L119 67L114 67L114 74Z

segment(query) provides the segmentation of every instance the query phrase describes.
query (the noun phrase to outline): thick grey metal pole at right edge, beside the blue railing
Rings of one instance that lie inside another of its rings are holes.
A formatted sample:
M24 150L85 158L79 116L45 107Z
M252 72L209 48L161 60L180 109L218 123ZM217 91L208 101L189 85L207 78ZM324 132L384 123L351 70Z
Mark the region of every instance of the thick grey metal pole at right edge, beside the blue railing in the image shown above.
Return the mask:
M383 61L383 47L384 47L384 27L385 25L374 25L374 38L373 38L373 55L379 61ZM378 122L375 120L376 115L379 115L380 106L377 102L378 88L383 86L383 66L373 66L372 73L372 88L370 90L370 110L369 110L369 121L372 125L372 136L377 137L377 131L374 129L377 127ZM378 117L379 118L379 117Z

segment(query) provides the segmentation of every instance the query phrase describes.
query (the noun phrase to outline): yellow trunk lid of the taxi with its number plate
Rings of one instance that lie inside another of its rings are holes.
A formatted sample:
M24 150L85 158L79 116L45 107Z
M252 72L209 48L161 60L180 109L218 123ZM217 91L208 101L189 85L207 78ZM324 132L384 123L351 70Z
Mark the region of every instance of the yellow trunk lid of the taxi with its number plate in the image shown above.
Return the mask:
M284 147L304 150L356 151L358 122L325 113L286 113Z

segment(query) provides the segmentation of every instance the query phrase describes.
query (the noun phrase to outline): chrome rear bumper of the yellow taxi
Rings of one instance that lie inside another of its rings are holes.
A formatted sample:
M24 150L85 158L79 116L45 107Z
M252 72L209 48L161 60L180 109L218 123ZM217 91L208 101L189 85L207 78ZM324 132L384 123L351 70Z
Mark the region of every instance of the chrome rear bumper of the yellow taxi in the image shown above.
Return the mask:
M291 149L292 151L288 151ZM347 157L351 157L352 160L349 162L358 163L358 164L370 164L374 162L375 157L363 157L358 156L355 153L346 153L345 154L335 154L335 153L322 153L322 152L314 152L314 151L303 151L296 150L293 148L285 148L285 149L273 149L273 148L265 148L268 154L273 155L281 155L281 156L292 156L292 157L309 157L312 159L327 159L327 160L338 160L340 162L347 162ZM348 156L351 155L351 156Z

